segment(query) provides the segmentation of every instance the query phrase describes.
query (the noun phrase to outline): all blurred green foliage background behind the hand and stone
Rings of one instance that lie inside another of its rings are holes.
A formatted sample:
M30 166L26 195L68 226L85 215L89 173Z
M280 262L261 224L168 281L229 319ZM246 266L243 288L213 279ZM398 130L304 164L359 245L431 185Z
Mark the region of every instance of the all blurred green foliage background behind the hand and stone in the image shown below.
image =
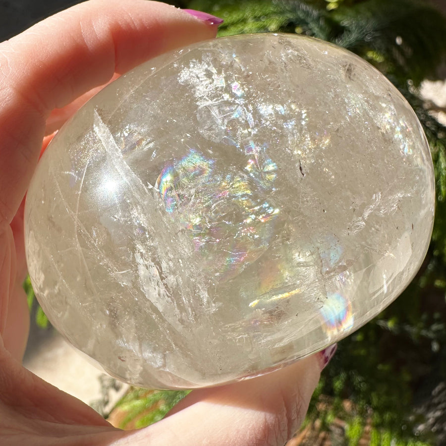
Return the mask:
M10 18L0 27L3 38L75 1L40 6L28 1L33 5L28 9L26 3L0 4L0 20L8 14ZM436 171L436 220L429 252L404 293L339 343L303 431L290 445L446 445L446 128L418 93L423 80L446 77L445 3L191 0L175 5L222 17L220 36L287 32L340 45L382 71L416 111ZM16 14L20 10L21 16ZM26 286L31 302L32 290L29 283ZM39 310L37 317L46 324ZM184 394L132 389L112 412L114 422L123 428L145 426L164 416Z

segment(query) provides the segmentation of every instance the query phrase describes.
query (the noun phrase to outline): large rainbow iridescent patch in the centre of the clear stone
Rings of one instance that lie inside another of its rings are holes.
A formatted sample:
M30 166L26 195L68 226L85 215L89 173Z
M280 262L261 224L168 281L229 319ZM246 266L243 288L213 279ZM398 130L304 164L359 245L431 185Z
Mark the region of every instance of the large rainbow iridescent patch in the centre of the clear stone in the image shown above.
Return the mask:
M155 184L170 218L192 238L194 249L214 262L203 271L228 280L268 248L279 209L259 192L273 188L276 164L266 146L245 147L248 177L216 172L216 160L190 149L181 160L167 163ZM260 164L259 164L260 163ZM215 261L215 260L218 261Z

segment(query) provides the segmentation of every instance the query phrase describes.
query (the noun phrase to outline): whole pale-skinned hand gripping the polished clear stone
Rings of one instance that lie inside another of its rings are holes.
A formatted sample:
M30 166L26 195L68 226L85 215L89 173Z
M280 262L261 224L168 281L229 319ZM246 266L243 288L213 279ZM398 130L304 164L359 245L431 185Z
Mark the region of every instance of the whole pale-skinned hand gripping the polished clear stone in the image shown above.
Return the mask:
M21 365L29 327L22 202L45 135L113 76L216 32L164 3L91 0L0 44L0 444L282 446L302 422L321 354L195 390L166 419L127 432Z

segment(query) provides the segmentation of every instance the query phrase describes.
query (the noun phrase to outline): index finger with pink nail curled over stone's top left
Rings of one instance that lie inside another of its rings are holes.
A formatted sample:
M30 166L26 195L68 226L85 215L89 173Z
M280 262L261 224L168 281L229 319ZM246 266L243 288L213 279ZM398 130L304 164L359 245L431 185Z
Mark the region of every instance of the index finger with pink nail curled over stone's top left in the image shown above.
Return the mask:
M150 57L215 37L217 26L165 3L90 0L0 44L0 222L10 223L54 108Z

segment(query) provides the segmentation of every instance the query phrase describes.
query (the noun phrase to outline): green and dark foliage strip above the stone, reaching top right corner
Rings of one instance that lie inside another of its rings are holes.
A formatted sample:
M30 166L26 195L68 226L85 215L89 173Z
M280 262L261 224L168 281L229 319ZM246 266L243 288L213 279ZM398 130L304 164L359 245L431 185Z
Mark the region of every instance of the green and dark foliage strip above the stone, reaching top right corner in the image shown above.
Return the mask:
M418 85L446 56L446 22L417 0L193 0L187 6L222 17L220 35L300 33L333 42L398 81Z

